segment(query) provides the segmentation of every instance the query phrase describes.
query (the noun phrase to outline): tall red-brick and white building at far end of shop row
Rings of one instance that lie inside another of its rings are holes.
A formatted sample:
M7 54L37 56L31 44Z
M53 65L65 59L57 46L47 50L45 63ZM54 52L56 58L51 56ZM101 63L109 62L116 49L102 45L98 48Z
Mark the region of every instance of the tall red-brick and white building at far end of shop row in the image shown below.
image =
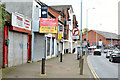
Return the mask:
M74 15L72 5L55 5L51 7L62 14L62 19L64 22L64 53L73 53L73 50L77 48L77 43L72 40L72 29L77 27L77 20L76 16Z

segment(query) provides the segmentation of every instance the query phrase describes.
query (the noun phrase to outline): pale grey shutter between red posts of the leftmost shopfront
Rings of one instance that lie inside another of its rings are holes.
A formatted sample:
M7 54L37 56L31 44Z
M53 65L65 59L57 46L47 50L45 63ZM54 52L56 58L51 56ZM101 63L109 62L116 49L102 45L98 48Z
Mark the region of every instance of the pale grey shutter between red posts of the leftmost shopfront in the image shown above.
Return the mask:
M9 31L8 67L27 62L27 34Z

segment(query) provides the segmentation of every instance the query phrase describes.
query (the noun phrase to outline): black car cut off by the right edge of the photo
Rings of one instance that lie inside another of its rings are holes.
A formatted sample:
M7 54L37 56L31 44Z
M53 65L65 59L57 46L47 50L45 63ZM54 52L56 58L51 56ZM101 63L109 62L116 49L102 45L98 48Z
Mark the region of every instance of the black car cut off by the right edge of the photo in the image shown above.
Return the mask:
M109 61L120 62L120 51L114 51L112 54L110 54Z

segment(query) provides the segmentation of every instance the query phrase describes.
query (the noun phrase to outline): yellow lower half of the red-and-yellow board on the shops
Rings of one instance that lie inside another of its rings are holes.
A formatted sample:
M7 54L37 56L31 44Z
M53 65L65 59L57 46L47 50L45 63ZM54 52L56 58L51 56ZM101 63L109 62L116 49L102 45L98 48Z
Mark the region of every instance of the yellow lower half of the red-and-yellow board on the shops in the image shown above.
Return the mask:
M40 33L57 33L57 26L41 26Z

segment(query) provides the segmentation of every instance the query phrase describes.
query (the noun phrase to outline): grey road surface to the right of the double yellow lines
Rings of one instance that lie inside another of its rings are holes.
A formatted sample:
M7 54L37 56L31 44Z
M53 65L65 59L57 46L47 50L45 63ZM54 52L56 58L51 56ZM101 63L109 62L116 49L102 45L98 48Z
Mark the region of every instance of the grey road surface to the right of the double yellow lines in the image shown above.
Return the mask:
M88 61L99 78L118 78L119 63L109 62L104 53L101 56L88 56Z

